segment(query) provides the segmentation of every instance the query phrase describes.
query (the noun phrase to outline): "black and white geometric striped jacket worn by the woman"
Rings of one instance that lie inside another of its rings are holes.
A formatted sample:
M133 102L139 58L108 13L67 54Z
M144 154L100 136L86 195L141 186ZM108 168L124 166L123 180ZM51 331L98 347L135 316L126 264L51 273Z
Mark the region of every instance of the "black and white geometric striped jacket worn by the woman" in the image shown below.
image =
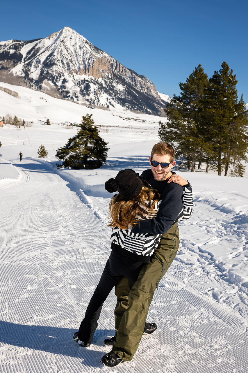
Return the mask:
M182 201L183 209L175 222L178 222L179 220L187 220L193 213L193 196L191 186L189 184L183 186ZM147 201L149 207L151 206L152 202L153 201ZM145 219L139 216L140 220L152 219L158 213L160 203L161 200L158 201L158 203L156 203L153 207L155 214L145 214ZM160 238L161 234L152 235L150 233L133 233L132 229L125 230L119 229L118 227L112 228L111 235L112 243L136 255L149 257L152 256L153 252L158 246Z

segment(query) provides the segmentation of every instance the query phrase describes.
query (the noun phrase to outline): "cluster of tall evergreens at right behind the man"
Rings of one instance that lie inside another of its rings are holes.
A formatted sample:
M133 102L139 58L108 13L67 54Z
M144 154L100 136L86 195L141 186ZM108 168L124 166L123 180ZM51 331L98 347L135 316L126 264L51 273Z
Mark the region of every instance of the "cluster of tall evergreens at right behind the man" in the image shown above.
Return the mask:
M208 78L201 65L185 83L181 94L166 106L168 121L159 122L161 141L174 145L181 167L195 170L201 164L218 175L243 176L248 150L248 110L238 99L236 75L223 62Z

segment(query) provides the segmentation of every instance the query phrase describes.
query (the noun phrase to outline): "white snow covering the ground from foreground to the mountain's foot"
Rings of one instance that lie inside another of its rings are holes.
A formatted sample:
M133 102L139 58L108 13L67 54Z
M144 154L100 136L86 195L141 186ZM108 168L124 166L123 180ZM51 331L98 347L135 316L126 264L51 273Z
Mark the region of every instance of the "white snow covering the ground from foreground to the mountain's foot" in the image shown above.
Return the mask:
M160 118L0 85L20 96L0 91L0 116L33 120L25 129L0 128L0 371L247 373L247 173L178 171L193 187L194 213L179 223L178 254L149 310L158 329L142 337L132 361L104 368L100 359L110 349L103 341L114 335L114 292L90 348L72 339L110 253L111 195L104 183L121 169L149 168ZM93 113L109 143L107 162L96 170L58 170L56 150L77 131L61 122L80 122L86 113ZM47 118L51 126L43 124ZM41 144L48 158L37 158Z

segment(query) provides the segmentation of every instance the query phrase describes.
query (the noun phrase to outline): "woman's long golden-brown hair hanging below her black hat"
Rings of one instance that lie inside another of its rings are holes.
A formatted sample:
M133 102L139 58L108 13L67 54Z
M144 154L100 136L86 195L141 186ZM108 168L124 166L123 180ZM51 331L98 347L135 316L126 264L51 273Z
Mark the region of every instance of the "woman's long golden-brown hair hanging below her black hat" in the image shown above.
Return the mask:
M155 213L153 207L159 201L159 198L156 189L149 189L146 186L143 186L140 194L130 201L124 201L120 194L115 194L109 203L109 219L111 219L111 222L108 227L117 226L120 229L130 229L131 226L138 224L141 219L147 219L146 215ZM150 200L153 200L151 207L146 203Z

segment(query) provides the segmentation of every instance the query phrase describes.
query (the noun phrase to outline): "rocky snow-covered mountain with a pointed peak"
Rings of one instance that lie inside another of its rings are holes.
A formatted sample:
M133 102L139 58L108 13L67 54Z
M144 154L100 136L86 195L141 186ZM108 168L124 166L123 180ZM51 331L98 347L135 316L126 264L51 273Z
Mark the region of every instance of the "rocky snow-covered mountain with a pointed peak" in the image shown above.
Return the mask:
M106 109L118 103L161 115L166 105L146 76L125 68L70 27L43 39L1 41L0 81Z

